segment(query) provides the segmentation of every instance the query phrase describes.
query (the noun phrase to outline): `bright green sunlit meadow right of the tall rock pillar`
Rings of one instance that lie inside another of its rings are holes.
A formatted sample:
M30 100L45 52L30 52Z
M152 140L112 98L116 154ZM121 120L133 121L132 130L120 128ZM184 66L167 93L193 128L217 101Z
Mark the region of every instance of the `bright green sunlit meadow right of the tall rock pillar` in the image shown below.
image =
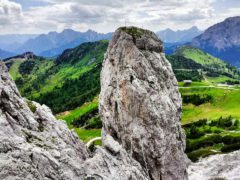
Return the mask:
M210 103L199 106L193 104L183 105L182 124L207 118L214 119L221 116L233 116L240 119L240 90L209 88L185 88L180 89L182 95L186 94L208 94L213 97Z

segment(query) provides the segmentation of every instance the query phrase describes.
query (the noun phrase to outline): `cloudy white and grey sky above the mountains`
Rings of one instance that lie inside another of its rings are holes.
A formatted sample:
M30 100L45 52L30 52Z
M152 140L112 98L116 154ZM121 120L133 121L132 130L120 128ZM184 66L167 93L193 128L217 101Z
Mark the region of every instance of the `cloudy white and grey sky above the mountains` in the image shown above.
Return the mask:
M106 33L125 25L204 30L238 15L240 0L0 0L0 34Z

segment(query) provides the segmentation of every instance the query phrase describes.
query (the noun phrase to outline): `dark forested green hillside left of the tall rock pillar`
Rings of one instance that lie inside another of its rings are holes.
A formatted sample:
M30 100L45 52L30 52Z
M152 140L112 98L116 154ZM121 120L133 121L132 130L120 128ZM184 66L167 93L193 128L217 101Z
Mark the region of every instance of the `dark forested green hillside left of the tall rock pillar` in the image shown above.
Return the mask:
M100 90L101 63L107 41L83 43L57 60L13 58L6 63L21 94L47 104L54 112L74 109Z

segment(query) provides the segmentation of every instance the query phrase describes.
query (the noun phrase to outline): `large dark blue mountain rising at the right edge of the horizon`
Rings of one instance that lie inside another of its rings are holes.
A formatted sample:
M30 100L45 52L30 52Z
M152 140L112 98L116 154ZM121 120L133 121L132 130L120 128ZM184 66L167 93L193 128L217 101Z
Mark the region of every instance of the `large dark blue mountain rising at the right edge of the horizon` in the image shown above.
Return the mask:
M240 16L209 27L195 37L191 45L240 67Z

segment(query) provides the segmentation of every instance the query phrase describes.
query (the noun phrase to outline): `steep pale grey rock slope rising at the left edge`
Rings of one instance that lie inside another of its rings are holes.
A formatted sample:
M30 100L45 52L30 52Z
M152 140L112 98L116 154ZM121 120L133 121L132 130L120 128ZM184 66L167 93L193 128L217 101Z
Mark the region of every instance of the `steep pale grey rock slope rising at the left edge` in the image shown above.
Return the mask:
M0 62L0 179L81 179L87 158L84 144L48 107L20 96Z

